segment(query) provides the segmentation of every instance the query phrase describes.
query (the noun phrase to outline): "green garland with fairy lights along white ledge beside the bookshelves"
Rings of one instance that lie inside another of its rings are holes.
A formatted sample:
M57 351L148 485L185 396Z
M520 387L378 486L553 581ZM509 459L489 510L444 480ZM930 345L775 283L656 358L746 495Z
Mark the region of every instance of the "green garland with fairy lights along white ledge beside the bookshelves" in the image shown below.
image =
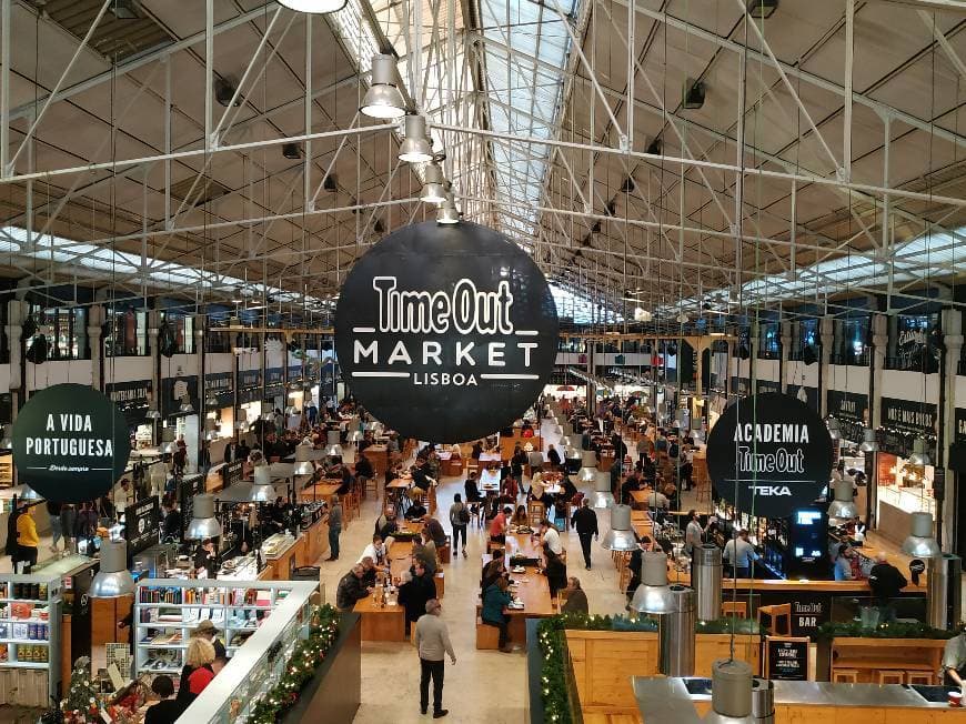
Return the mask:
M315 676L329 650L339 637L339 612L325 604L315 609L309 624L309 637L295 644L285 662L285 672L252 707L252 724L275 724L299 701L302 687Z

